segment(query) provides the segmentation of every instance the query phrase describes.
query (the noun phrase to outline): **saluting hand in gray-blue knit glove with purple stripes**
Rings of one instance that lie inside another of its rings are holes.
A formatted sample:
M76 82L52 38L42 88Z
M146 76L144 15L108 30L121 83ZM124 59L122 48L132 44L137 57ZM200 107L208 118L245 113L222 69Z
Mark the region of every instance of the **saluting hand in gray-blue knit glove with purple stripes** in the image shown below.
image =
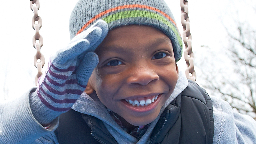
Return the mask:
M98 64L93 51L107 33L107 23L99 20L50 57L46 74L39 78L39 87L30 96L32 113L40 124L50 123L71 109L80 97Z

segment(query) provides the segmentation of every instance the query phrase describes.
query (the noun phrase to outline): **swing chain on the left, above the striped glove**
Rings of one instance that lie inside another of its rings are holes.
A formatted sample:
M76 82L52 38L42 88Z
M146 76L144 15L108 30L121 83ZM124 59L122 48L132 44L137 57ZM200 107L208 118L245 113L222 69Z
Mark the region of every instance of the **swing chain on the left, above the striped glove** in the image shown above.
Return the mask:
M34 66L38 71L35 77L36 86L38 85L38 78L43 74L42 69L45 63L44 55L41 53L43 37L39 34L39 30L42 27L42 19L40 16L38 16L39 7L39 0L30 0L30 9L34 12L34 16L32 18L32 27L35 30L35 35L33 36L33 46L36 49L36 55L34 56Z

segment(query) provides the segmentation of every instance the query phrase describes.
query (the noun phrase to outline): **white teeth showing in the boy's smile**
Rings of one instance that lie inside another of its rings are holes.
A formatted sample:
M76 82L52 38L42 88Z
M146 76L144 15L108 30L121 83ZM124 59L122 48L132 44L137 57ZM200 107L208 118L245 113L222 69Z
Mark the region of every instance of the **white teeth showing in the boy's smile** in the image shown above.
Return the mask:
M128 104L132 106L147 106L153 103L155 100L157 100L158 94L154 96L144 97L143 99L125 99Z

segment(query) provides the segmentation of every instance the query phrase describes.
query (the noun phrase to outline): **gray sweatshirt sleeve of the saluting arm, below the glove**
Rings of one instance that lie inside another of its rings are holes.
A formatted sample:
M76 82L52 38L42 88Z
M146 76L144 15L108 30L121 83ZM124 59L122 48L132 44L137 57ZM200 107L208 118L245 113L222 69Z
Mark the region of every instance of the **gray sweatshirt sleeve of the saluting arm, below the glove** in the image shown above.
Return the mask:
M57 128L58 118L51 122L49 129L35 120L29 105L29 94L35 90L0 104L0 144L31 143Z

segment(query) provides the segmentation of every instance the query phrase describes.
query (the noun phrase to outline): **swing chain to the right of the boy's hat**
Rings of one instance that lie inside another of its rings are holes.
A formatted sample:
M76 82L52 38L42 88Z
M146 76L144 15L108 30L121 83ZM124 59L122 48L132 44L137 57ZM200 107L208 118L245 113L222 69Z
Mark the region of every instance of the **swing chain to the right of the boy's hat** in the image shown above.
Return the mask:
M194 54L192 52L192 36L190 33L189 17L188 17L188 1L180 0L181 5L181 24L183 26L183 41L185 44L184 58L187 63L186 77L192 81L196 81L196 72L194 70Z

